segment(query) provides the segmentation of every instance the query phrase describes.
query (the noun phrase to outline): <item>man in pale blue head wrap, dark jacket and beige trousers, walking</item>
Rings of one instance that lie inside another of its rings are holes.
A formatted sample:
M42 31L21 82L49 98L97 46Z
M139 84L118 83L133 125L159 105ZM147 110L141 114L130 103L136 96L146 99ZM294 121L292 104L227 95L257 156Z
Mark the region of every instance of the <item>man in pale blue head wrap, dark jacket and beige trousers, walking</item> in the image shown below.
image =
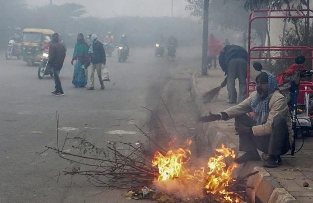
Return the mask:
M101 78L101 71L104 68L106 58L103 44L97 40L96 34L90 35L90 47L89 47L89 55L91 62L91 72L90 72L90 87L87 90L95 89L95 71L97 71L97 75L100 82L100 89L104 90L104 84Z

